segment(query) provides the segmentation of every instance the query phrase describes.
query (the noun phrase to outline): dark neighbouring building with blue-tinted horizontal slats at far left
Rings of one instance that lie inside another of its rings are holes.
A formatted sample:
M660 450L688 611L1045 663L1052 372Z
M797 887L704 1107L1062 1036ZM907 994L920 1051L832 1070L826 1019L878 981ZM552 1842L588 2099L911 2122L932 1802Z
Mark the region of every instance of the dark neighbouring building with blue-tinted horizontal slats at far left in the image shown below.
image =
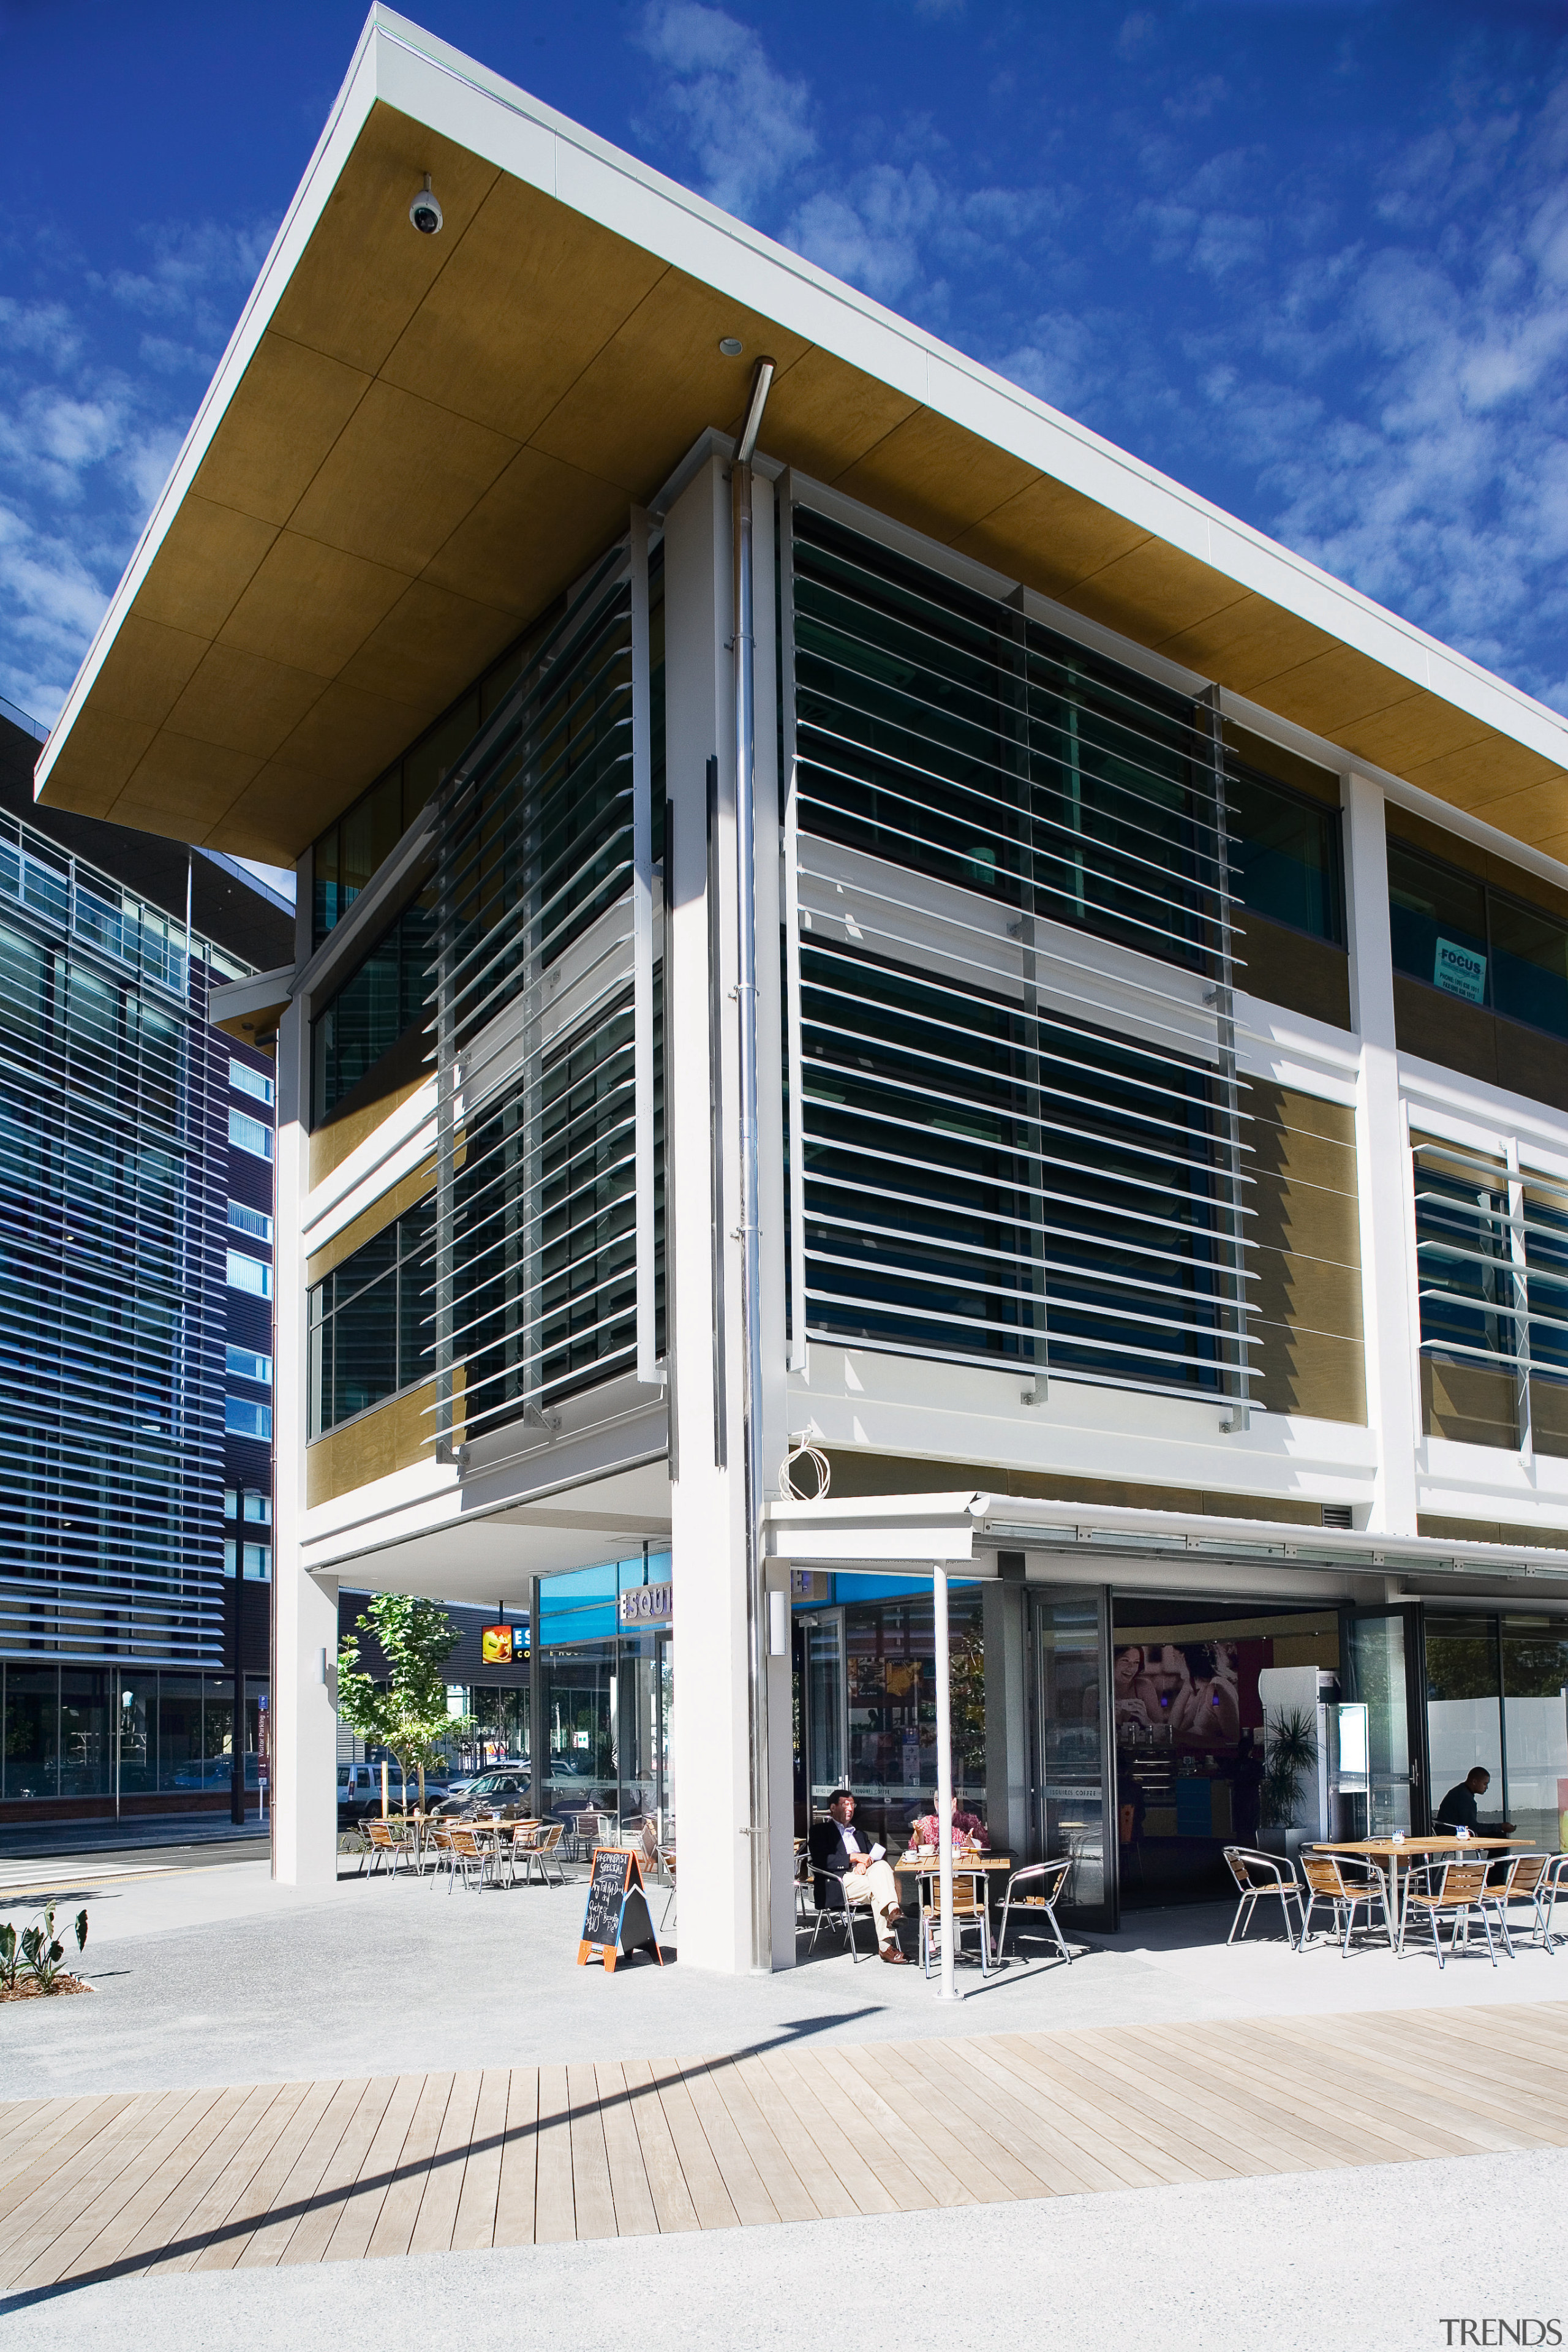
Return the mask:
M33 811L38 741L0 724L0 1818L230 1809L235 1722L256 1809L270 1550L223 1519L270 1524L270 1298L233 1284L270 1235L273 1065L207 1021L252 964L193 927L183 849ZM202 875L247 946L259 898Z

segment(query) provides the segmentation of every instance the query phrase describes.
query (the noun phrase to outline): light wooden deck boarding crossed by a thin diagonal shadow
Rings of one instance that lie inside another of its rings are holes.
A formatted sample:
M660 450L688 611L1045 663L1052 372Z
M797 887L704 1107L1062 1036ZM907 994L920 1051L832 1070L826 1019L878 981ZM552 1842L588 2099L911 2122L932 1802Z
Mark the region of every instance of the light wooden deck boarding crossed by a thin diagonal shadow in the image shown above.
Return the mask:
M1568 2002L31 2098L0 2293L1509 2147L1568 2147Z

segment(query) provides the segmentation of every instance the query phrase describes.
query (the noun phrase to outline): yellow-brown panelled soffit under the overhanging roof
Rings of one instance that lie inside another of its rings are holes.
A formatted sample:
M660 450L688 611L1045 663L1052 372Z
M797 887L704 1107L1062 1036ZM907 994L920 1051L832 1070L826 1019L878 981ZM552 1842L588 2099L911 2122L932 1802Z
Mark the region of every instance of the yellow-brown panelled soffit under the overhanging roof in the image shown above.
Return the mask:
M407 221L423 172L440 238ZM1568 771L1547 753L386 99L68 706L42 797L292 863L630 501L705 428L736 428L759 350L778 362L769 456L1561 854Z

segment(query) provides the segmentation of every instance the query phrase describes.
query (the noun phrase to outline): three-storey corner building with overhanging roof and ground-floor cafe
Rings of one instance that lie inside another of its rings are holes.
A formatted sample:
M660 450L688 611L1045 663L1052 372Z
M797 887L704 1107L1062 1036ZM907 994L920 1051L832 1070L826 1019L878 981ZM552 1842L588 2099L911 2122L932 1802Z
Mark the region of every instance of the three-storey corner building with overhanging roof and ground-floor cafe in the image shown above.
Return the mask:
M376 9L40 779L299 866L284 1879L341 1588L527 1621L708 1966L940 1621L1084 1919L1559 1842L1556 713Z

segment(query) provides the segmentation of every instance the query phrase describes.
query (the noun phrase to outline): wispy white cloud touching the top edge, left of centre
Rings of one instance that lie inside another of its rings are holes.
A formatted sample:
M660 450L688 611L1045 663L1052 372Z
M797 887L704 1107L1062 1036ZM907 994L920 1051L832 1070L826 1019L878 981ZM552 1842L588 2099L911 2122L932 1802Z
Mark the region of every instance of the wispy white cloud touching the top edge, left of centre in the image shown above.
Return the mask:
M698 0L656 0L639 42L665 73L656 108L691 151L703 195L755 219L816 153L809 85L778 73L750 26Z

